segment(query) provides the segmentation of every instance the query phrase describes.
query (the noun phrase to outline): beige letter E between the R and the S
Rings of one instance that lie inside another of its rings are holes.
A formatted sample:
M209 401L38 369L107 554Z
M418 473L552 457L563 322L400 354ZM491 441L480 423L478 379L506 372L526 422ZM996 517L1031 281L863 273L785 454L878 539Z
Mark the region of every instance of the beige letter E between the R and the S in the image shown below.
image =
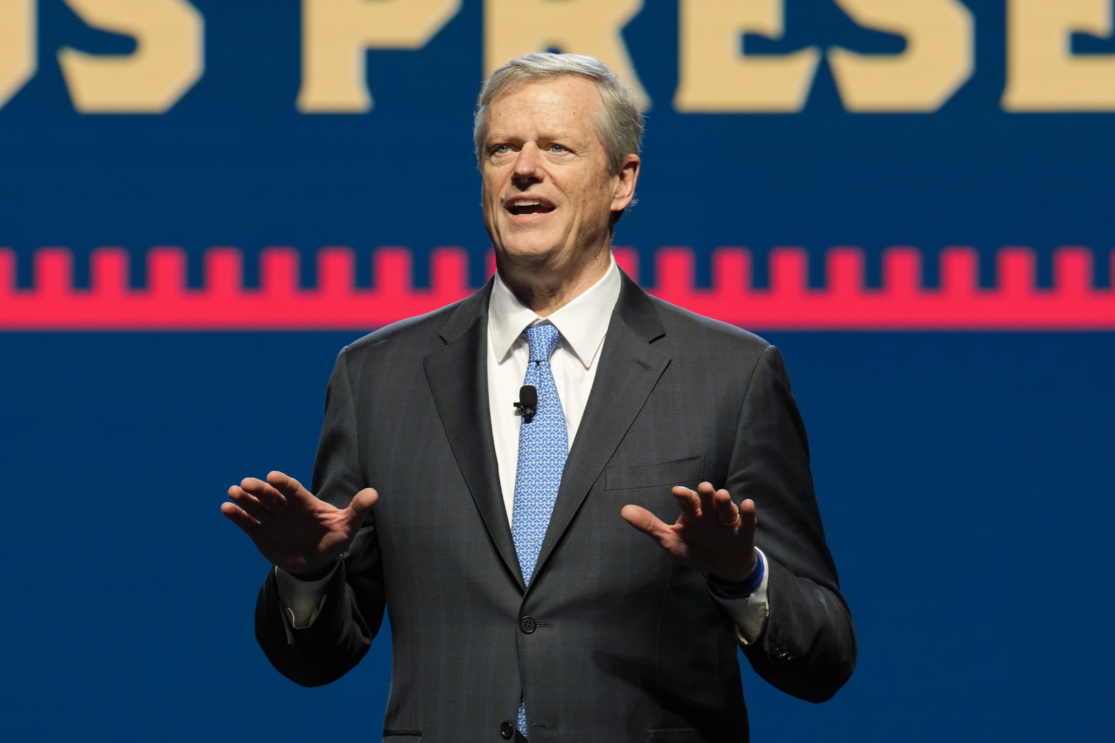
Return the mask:
M821 52L740 52L743 33L783 35L783 0L680 0L679 111L802 110ZM746 52L746 49L744 50Z

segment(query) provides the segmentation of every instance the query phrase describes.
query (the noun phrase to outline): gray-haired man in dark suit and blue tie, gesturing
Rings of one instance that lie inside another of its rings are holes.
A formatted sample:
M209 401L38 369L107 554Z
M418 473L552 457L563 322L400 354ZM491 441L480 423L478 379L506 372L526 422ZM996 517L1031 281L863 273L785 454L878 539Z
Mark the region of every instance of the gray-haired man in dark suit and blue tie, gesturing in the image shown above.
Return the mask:
M291 680L343 675L387 608L385 740L746 741L738 646L814 702L852 673L777 349L611 257L641 131L598 60L493 74L476 144L497 275L341 352L316 495L271 472L222 506L275 566L256 636Z

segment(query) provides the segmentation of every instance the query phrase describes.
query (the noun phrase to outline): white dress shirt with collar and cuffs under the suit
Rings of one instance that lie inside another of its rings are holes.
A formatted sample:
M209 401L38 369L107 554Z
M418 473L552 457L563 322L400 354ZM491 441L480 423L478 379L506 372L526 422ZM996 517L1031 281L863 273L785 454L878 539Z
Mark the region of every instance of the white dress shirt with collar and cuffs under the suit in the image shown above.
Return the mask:
M562 335L550 358L550 369L558 387L562 409L565 411L565 430L572 449L576 431L584 416L584 405L597 377L600 351L611 322L612 310L620 296L622 276L615 260L604 275L572 302L549 317L540 317L523 304L500 274L495 276L492 299L488 302L487 388L488 410L492 417L492 438L500 468L500 487L503 505L511 522L515 501L515 471L518 467L520 414L514 403L526 377L530 348L522 336L531 325L553 324ZM759 559L765 558L762 556ZM759 587L747 598L714 598L728 610L737 626L737 638L744 644L753 642L763 628L769 613L767 603L767 575ZM294 627L308 627L317 618L324 599L329 576L320 580L299 580L285 570L275 568L279 597L288 607Z

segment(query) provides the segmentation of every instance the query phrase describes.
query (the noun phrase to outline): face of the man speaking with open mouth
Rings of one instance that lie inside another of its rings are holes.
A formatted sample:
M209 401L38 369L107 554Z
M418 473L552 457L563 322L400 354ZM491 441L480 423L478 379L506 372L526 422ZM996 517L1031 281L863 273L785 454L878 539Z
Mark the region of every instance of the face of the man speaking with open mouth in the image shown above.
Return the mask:
M608 173L592 127L600 105L597 86L573 76L492 102L481 174L484 223L502 257L556 267L608 247L612 212L630 203L638 166L627 177Z

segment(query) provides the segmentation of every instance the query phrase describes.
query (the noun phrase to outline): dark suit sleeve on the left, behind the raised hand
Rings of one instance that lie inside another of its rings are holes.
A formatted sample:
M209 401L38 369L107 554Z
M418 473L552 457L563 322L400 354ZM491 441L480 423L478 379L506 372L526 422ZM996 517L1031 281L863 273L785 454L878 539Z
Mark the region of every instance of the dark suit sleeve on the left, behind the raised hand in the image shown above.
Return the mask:
M338 356L329 380L312 482L318 498L339 508L368 487L346 351ZM255 604L255 638L279 673L302 686L320 686L343 676L365 656L379 632L385 604L372 509L330 579L321 610L309 627L293 628L279 599L274 570L268 570Z

